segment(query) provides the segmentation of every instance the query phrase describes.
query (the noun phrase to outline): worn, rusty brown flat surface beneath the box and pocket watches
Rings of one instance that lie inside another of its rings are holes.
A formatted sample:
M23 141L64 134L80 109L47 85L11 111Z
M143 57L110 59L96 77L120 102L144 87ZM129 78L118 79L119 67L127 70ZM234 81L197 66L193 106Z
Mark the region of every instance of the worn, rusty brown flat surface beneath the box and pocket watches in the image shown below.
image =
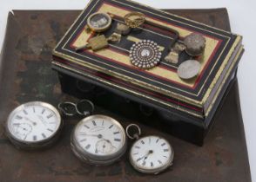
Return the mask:
M230 30L226 9L169 10L179 16ZM14 10L8 18L7 33L0 60L0 181L174 181L249 182L250 168L243 121L239 107L237 81L214 117L214 126L204 146L195 146L158 129L139 124L143 133L158 134L174 148L174 164L158 175L136 172L128 153L111 166L89 166L71 153L71 129L79 118L64 118L60 139L49 149L37 152L17 150L4 135L4 122L10 111L27 101L77 101L61 92L57 73L51 69L51 49L64 36L80 11ZM129 120L97 107L96 113ZM129 141L129 146L131 146Z

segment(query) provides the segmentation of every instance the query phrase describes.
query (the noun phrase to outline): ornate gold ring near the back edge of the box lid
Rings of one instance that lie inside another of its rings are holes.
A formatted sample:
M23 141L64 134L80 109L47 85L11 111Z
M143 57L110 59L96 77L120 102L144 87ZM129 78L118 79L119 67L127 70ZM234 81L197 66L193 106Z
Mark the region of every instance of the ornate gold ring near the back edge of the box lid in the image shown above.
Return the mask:
M145 15L140 12L131 12L125 15L125 23L128 27L134 29L145 23Z

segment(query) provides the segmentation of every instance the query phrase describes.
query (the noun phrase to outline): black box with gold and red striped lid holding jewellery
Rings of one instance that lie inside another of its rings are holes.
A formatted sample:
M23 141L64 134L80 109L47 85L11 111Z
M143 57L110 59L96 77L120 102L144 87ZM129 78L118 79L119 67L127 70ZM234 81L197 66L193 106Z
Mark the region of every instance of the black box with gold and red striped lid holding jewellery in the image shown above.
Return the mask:
M92 36L98 36L85 28L91 14L113 16L111 28L100 33L108 37L117 23L125 23L124 16L134 11L159 27L144 24L107 48L76 52ZM165 61L174 35L161 26L178 31L181 43L192 33L205 37L205 52L195 58L201 64L196 78L185 81L177 74L179 64L189 59L185 52L178 63ZM141 69L131 64L131 46L140 40L158 43L162 53L158 66ZM225 30L132 1L92 0L53 49L52 68L57 70L63 92L89 98L98 106L202 145L213 115L236 78L243 51L242 37Z

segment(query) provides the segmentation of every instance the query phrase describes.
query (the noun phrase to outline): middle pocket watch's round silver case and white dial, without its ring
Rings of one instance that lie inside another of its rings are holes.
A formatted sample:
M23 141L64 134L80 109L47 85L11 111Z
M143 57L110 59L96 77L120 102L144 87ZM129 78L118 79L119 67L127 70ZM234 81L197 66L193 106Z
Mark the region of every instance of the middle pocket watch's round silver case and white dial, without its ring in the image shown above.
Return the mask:
M92 165L110 165L125 153L125 130L113 118L95 114L77 123L71 133L71 150Z

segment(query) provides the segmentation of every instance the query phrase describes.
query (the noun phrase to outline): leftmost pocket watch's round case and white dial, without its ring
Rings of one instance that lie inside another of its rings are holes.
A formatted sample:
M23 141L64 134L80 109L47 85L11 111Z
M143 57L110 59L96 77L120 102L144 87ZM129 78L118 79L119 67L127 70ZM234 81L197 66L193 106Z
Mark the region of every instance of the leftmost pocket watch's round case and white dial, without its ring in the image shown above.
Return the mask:
M63 126L60 114L51 104L42 101L24 103L15 108L5 125L10 141L22 149L50 146Z

